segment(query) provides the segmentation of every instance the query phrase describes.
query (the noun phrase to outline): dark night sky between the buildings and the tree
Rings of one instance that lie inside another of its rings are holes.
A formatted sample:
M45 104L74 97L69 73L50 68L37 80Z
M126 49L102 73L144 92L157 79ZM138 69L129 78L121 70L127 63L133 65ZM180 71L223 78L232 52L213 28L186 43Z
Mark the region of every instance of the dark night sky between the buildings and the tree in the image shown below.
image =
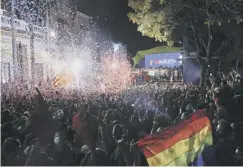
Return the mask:
M101 29L111 32L114 42L127 45L128 51L134 56L137 51L161 45L154 39L142 36L137 25L128 20L131 11L128 0L78 0L82 12L97 18L102 24Z

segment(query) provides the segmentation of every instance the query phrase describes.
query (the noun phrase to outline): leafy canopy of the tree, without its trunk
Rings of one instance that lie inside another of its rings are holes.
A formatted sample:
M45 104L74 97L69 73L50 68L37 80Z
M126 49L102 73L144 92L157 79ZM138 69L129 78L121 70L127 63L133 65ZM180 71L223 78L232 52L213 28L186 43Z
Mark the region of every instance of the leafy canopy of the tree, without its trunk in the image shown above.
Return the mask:
M183 33L185 27L222 26L243 18L241 0L129 0L128 5L133 9L128 17L138 31L168 45L173 45L173 35Z

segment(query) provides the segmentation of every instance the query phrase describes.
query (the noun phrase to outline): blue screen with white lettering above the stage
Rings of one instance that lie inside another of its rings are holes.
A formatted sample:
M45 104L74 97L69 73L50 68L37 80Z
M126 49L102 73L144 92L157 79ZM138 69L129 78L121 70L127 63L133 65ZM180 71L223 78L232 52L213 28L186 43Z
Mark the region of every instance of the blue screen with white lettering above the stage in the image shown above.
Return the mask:
M145 56L145 68L180 67L182 65L180 58L180 52L149 54Z

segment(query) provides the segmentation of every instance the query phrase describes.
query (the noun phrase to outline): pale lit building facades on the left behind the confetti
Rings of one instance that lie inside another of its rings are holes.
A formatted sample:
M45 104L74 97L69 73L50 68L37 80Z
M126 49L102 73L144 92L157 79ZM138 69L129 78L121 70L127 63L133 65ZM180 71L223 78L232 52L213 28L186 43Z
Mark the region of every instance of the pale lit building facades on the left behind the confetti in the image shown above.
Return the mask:
M47 7L45 26L33 25L33 31L30 22L17 18L14 20L15 58L10 12L1 9L2 83L15 82L19 79L23 83L52 80L54 74L50 62L55 58L66 56L63 55L63 49L69 51L73 49L70 43L75 41L70 42L70 40L75 37L76 41L80 41L87 34L93 34L95 37L94 33L89 31L92 18L75 10L72 4L68 3L67 0L60 0L56 1L55 5ZM82 36L81 32L86 35Z

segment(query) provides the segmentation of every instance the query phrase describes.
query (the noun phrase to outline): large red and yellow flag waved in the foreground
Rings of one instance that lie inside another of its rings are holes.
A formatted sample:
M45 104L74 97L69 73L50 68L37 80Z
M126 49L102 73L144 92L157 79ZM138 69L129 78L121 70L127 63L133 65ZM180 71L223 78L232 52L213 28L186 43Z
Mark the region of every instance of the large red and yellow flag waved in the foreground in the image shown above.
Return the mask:
M213 144L210 120L199 110L178 124L138 141L150 166L187 166Z

